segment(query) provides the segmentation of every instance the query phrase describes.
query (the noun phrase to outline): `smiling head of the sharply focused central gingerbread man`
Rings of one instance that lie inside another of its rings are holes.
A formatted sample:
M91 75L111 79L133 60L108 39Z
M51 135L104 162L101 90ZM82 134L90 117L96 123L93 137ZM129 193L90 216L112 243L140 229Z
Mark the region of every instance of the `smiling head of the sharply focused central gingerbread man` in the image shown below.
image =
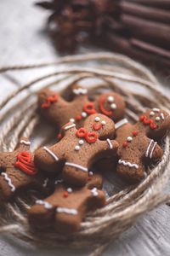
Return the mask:
M115 134L114 122L101 113L90 115L83 126L87 131L94 132L99 139L111 138Z

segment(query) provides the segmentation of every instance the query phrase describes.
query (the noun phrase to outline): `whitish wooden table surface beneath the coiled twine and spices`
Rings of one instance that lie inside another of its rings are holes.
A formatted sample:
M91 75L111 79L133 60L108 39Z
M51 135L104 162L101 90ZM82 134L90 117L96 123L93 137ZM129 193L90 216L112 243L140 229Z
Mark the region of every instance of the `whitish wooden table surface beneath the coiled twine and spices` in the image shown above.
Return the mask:
M0 1L0 66L56 59L58 54L44 31L48 12L36 8L33 3L32 0ZM97 50L82 48L79 52ZM19 73L1 76L0 100L14 87L24 82L26 82L26 76ZM168 190L170 189L167 186ZM68 253L56 249L45 250L27 245L14 237L0 236L0 256L81 256L86 254L84 252ZM145 214L131 229L113 242L104 255L170 255L170 207L163 205Z

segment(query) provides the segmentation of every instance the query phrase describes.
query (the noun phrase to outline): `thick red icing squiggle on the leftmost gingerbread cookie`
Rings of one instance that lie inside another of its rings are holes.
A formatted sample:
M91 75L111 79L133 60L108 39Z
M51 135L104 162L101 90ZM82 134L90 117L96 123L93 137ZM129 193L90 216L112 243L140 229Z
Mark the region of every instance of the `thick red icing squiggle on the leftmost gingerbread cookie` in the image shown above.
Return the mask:
M34 166L34 162L31 160L31 154L28 152L20 152L17 155L17 161L14 166L19 168L20 171L26 172L28 175L37 174L37 169Z

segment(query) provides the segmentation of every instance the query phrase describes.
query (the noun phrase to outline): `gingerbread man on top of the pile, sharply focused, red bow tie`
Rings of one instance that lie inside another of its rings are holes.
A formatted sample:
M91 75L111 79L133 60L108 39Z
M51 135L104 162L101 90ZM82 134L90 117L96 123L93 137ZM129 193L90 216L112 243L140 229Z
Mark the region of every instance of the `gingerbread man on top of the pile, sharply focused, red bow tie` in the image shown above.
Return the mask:
M35 164L46 172L59 172L67 183L82 186L87 182L92 163L105 156L116 155L118 143L114 136L114 122L103 114L92 114L83 127L68 123L63 126L64 136L52 147L43 147L35 152Z

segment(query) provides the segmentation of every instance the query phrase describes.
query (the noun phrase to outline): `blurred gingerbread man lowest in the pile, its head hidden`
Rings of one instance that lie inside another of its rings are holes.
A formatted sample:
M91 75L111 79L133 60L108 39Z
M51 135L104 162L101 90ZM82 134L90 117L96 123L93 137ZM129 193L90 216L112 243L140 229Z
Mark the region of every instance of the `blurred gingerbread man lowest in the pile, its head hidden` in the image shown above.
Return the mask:
M80 229L82 219L89 211L105 206L105 194L100 190L102 178L94 175L82 188L69 187L59 181L53 195L37 200L28 218L38 230L54 229L65 234Z

